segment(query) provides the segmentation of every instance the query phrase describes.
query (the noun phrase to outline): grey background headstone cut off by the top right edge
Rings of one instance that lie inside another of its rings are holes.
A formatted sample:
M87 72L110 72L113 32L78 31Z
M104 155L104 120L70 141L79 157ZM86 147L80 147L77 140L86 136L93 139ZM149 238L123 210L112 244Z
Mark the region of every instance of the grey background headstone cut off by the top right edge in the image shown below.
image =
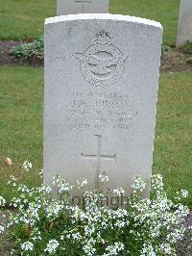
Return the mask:
M192 40L192 0L180 0L177 48L188 39Z

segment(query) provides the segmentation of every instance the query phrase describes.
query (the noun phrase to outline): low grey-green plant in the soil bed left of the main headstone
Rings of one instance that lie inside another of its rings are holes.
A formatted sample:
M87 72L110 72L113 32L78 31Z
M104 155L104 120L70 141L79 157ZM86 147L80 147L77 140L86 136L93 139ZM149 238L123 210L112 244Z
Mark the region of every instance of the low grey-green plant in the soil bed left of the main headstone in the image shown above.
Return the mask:
M43 60L44 41L42 37L36 38L31 43L22 43L13 46L10 54L16 59L24 59L27 61Z

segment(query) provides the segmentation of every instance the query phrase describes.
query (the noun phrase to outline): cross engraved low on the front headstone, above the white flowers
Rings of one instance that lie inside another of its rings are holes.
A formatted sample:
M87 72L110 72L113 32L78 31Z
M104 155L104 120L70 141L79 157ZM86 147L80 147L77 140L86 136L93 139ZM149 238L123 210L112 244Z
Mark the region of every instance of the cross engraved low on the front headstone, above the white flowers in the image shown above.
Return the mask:
M104 160L112 160L116 161L116 154L115 155L102 155L101 149L102 149L102 135L95 135L97 137L97 154L95 155L84 155L81 153L81 157L83 159L95 159L96 160L96 179L95 179L95 187L99 187L99 174L100 174L100 168L101 168L101 159Z

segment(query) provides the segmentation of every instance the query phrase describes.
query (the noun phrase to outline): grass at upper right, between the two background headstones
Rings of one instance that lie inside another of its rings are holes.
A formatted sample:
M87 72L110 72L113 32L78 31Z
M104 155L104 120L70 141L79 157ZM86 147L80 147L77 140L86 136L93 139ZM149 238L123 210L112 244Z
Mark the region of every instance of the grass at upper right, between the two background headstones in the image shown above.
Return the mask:
M180 0L110 0L110 12L159 21L163 44L176 45Z

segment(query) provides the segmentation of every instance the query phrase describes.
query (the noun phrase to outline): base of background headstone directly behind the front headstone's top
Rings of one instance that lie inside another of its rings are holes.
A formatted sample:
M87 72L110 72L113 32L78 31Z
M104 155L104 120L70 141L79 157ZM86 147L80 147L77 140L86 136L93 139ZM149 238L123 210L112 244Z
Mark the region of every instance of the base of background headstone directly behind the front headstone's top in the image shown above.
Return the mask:
M109 0L57 0L57 15L108 13Z

